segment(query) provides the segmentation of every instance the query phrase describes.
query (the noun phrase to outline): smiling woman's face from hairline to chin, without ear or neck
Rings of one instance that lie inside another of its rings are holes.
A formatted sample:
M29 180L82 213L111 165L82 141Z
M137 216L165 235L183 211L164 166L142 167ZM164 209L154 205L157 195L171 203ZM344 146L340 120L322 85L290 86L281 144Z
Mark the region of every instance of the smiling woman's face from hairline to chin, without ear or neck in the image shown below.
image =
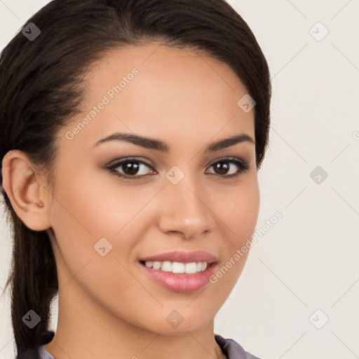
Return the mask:
M237 104L247 90L224 63L158 43L113 50L87 80L83 113L59 133L49 196L59 311L169 335L201 330L236 284L248 252L234 258L257 223L255 109ZM213 146L238 135L244 140ZM156 260L173 251L190 256ZM215 263L172 273L213 262L195 251ZM162 271L148 262L179 264L155 264Z

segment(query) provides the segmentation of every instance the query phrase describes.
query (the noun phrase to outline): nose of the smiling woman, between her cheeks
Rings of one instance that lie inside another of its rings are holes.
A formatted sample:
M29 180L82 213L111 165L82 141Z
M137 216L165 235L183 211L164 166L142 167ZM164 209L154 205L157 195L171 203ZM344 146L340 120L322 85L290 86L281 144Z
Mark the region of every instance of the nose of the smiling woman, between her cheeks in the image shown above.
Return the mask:
M177 184L167 182L159 205L158 226L163 233L177 233L189 239L215 229L215 208L211 208L205 189L199 189L196 180L189 176Z

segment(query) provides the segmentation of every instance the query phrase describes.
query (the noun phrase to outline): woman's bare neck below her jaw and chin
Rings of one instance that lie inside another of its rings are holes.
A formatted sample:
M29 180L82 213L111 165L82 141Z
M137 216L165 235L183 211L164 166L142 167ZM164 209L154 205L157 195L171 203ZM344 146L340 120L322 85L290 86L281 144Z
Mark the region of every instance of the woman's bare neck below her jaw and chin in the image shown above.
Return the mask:
M43 346L56 359L226 358L215 341L213 320L196 332L187 328L166 335L118 318L95 300L88 301L81 290L73 296L65 295L65 290L59 293L55 336Z

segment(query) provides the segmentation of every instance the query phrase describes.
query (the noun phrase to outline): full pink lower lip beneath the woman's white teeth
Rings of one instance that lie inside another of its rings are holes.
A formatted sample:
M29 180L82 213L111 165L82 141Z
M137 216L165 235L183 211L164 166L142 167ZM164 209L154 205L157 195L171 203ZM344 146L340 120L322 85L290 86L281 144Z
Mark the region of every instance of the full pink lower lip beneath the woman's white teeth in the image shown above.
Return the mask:
M210 276L215 273L216 265L212 263L204 271L194 274L165 272L161 269L149 268L142 263L140 266L156 283L168 290L189 293L196 292L209 282Z

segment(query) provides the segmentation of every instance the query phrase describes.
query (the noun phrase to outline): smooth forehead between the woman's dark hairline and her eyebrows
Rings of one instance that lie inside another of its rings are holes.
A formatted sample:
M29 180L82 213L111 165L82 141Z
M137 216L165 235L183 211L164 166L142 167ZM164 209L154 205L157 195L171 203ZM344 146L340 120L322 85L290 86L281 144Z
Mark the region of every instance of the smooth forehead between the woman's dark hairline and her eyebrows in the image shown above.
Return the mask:
M114 48L88 69L83 113L64 131L78 128L72 146L88 149L114 132L187 141L179 146L216 134L254 138L254 110L237 105L247 92L228 65L193 49Z

